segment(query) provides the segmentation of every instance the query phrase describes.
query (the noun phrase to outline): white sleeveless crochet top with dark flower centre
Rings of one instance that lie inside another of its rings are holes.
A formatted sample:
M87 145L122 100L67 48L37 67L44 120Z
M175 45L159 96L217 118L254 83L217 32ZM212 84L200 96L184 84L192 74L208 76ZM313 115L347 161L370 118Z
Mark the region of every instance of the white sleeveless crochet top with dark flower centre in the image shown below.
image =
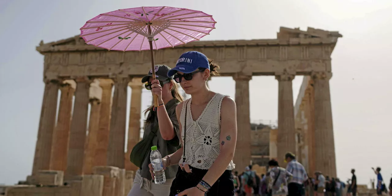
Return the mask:
M181 140L184 142L185 107L187 107L185 162L192 167L209 169L220 154L220 109L225 96L227 95L216 93L196 121L193 120L191 113L192 98L185 100L183 104L180 115ZM183 159L181 158L179 163L182 162ZM234 168L235 164L230 161L227 170Z

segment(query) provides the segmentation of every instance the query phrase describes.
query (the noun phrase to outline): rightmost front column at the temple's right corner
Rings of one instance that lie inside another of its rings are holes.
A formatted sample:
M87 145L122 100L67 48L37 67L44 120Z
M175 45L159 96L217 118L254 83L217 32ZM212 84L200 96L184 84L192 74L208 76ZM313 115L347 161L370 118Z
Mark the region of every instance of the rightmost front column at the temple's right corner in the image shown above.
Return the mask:
M329 80L332 73L312 73L314 81L314 139L316 170L336 177L334 131Z

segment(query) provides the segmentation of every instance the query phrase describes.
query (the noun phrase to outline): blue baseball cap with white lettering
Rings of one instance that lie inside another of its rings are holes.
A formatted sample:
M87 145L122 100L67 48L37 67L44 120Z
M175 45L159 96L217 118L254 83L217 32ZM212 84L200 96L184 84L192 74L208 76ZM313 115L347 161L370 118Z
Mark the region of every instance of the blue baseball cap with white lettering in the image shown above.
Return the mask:
M171 77L177 73L177 71L183 73L192 73L198 68L210 69L210 63L203 53L198 51L189 51L181 54L177 60L176 67L167 72L167 77Z

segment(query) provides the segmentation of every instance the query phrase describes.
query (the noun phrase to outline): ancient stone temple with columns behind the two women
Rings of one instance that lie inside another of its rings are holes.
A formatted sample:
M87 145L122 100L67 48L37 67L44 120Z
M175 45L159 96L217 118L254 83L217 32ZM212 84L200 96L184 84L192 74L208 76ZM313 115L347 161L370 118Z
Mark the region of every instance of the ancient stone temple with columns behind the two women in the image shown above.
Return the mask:
M198 41L154 53L156 64L174 67L185 51L200 51L221 66L222 76L235 80L237 171L243 171L252 158L249 81L253 76L275 76L278 130L270 134L269 158L285 166L284 154L297 152L310 171L336 176L329 80L330 56L339 37L338 32L310 27L307 31L281 27L276 39ZM36 50L44 56L45 89L33 170L27 185L9 187L6 194L126 195L137 169L129 154L140 140L140 77L150 69L150 52L107 51L85 44L79 36L41 42ZM296 75L307 77L294 107ZM127 100L128 86L131 100ZM131 113L125 146L127 102Z

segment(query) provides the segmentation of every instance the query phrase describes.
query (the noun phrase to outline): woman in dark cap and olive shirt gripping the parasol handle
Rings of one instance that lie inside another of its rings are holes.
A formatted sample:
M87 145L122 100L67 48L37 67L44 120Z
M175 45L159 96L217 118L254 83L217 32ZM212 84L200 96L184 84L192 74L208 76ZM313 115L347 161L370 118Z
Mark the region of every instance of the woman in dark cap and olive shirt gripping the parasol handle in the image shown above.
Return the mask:
M150 152L137 152L145 155L142 160L140 169L136 171L132 189L128 196L162 196L169 195L171 183L176 176L178 167L171 164L170 155L180 148L180 127L176 117L176 106L183 101L178 91L178 85L174 82L173 77L168 77L167 72L170 67L167 65L155 65L156 80L152 80L152 70L142 78L145 88L151 90L152 94L158 96L158 107L152 105L145 110L145 128L143 140L147 140L149 134L152 137L151 146L156 145L158 151L164 158L163 167L165 169L166 182L163 184L155 184L152 181L151 170L149 169ZM155 132L155 133L154 133ZM141 141L142 142L142 141ZM150 141L148 141L150 142ZM136 147L136 146L135 146ZM134 152L132 150L132 152ZM136 152L135 152L136 153ZM132 157L132 155L131 155ZM132 158L131 158L132 159ZM173 166L168 166L173 165Z

